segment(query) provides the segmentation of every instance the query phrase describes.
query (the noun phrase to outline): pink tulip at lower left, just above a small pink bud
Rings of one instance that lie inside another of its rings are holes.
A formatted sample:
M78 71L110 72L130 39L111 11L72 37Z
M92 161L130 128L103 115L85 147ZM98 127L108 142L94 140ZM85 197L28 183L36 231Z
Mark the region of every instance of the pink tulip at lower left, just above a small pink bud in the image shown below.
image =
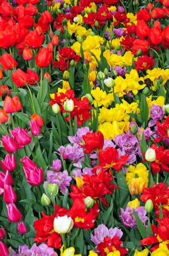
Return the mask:
M18 222L22 218L22 214L20 211L17 209L16 205L14 203L12 204L7 204L7 217L8 220L11 222Z

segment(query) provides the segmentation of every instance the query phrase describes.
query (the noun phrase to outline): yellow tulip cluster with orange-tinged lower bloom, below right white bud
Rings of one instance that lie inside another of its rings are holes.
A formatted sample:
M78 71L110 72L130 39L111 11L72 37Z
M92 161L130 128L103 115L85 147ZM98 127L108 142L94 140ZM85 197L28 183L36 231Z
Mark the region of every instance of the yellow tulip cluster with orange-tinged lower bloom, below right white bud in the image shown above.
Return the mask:
M143 189L148 186L148 170L143 163L138 163L137 166L129 166L127 169L125 180L129 187L131 195L138 195L143 192Z

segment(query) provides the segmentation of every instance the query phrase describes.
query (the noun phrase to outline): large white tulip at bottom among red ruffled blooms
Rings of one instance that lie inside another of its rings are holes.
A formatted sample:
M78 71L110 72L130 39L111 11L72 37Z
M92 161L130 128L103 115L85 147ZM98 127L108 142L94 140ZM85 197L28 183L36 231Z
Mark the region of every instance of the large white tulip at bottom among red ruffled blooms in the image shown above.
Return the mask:
M58 234L69 233L73 225L73 219L67 215L54 218L54 230Z

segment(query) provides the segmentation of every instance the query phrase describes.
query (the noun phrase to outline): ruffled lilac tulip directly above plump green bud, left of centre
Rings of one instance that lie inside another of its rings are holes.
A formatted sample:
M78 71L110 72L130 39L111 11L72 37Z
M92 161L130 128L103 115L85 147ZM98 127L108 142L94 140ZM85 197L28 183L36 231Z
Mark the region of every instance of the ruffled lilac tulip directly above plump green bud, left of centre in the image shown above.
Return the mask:
M58 184L59 190L65 194L67 191L67 187L70 186L70 181L72 177L68 175L68 171L65 170L63 172L46 172L46 180L51 182L52 184ZM44 182L45 185L46 182Z

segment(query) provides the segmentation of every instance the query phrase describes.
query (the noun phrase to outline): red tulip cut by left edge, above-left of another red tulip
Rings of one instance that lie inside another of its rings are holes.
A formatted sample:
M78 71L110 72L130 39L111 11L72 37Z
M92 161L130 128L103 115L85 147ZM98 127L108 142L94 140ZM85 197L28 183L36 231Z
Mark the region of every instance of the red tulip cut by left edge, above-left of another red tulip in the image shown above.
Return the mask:
M13 70L17 67L18 63L9 53L4 53L0 58L0 64L3 66L4 70Z

